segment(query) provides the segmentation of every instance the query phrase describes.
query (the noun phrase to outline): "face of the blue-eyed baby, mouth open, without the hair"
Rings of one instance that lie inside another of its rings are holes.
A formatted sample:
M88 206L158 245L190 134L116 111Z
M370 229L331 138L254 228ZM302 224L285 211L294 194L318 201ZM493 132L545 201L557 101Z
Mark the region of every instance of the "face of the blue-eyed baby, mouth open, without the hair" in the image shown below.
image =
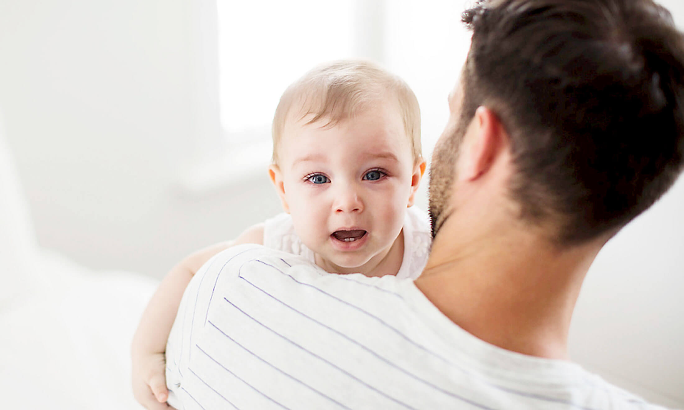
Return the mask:
M285 124L276 190L295 232L326 269L363 271L397 240L422 160L414 161L395 103L370 105L334 126L308 119Z

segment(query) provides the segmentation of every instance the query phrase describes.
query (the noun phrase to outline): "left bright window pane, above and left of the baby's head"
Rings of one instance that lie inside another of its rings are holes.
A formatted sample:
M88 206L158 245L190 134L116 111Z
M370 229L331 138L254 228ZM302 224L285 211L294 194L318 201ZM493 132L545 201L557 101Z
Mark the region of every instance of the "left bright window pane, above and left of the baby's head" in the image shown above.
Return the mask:
M321 62L354 56L350 1L218 1L221 121L269 137L280 94Z

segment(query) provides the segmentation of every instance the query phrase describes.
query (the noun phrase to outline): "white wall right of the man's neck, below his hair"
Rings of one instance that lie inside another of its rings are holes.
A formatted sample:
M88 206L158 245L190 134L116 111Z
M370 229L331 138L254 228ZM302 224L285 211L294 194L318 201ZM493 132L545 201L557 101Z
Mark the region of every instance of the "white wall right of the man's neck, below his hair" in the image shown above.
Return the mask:
M603 248L583 285L570 355L665 405L684 407L684 178Z

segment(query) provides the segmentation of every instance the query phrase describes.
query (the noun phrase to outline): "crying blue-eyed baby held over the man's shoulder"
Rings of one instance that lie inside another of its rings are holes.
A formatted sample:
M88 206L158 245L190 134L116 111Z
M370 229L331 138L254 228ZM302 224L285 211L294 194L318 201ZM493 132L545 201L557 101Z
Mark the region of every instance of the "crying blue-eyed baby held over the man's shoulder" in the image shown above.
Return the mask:
M133 338L133 391L166 408L166 340L183 290L226 247L258 243L298 254L330 273L415 279L430 226L412 208L425 172L420 111L408 85L363 61L304 74L280 98L269 175L285 213L180 262L159 285Z

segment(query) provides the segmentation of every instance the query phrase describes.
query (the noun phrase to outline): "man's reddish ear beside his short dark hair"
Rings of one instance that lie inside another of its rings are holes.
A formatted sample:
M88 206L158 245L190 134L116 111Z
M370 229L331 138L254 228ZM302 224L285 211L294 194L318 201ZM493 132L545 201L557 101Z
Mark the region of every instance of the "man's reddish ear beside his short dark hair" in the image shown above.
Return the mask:
M479 107L471 122L471 143L465 144L468 150L463 177L475 180L486 174L495 163L497 156L508 143L508 135L497 115L487 107Z

